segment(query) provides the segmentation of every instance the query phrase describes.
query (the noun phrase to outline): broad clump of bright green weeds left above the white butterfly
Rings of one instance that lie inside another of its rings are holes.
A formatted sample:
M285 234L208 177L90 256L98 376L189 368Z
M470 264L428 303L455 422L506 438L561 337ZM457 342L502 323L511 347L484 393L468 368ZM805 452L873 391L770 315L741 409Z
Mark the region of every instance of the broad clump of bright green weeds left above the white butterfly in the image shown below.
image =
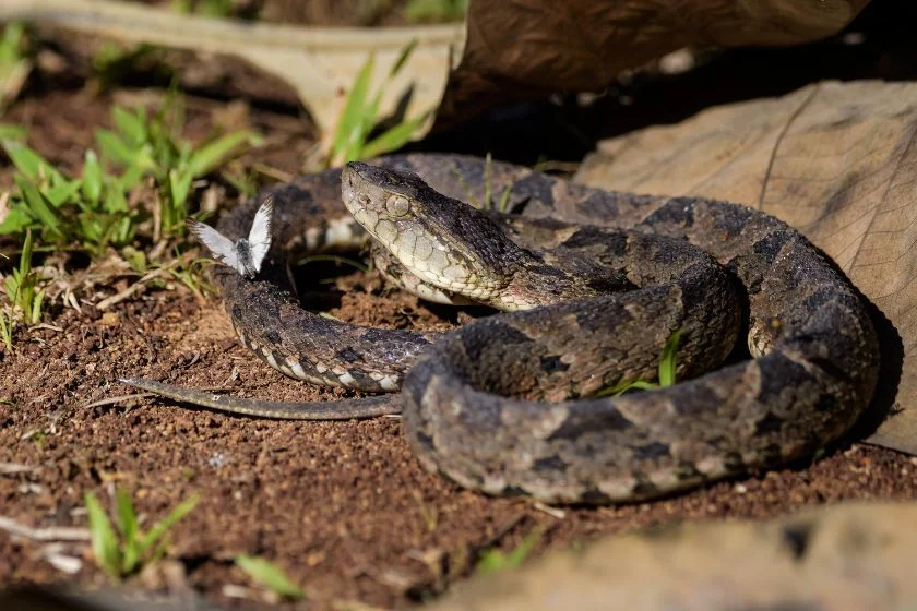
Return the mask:
M16 168L10 211L0 233L35 230L41 243L59 249L75 245L92 255L109 247L120 249L134 241L138 227L148 218L136 206L128 205L130 194L153 177L158 187L158 204L153 211L154 241L184 231L186 204L192 182L203 177L253 137L233 132L198 148L176 141L167 125L171 105L147 119L138 108L116 107L116 130L97 130L95 151L86 151L83 173L67 178L38 153L14 140L3 140L2 148ZM120 175L110 167L121 168Z

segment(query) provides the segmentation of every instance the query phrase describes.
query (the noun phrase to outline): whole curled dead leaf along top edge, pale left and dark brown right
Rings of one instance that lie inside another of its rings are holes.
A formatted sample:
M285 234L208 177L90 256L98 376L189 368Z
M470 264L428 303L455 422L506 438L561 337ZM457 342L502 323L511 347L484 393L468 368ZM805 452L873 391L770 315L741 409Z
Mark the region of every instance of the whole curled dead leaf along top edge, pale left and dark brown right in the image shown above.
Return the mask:
M112 0L3 0L27 20L196 51L231 53L296 88L319 129L333 129L370 52L372 87L412 39L419 48L383 96L383 115L439 106L434 129L504 101L600 91L627 69L684 46L785 46L843 28L869 0L469 0L465 26L322 28L239 24ZM464 48L464 53L462 49ZM450 74L453 59L462 55ZM449 81L446 82L446 77ZM440 100L442 103L440 104ZM421 132L417 133L419 137Z

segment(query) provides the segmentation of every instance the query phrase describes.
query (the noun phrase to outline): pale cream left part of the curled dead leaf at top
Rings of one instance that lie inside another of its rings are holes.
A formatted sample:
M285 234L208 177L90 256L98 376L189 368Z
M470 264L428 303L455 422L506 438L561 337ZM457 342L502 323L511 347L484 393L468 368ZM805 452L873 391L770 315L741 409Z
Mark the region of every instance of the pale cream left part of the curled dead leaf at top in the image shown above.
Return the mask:
M5 20L52 23L128 43L241 57L289 83L324 133L334 129L369 55L376 56L370 85L376 91L410 40L417 40L418 48L385 89L381 116L405 110L413 117L436 109L451 57L461 52L465 35L461 24L296 27L182 15L109 0L2 0L0 21Z

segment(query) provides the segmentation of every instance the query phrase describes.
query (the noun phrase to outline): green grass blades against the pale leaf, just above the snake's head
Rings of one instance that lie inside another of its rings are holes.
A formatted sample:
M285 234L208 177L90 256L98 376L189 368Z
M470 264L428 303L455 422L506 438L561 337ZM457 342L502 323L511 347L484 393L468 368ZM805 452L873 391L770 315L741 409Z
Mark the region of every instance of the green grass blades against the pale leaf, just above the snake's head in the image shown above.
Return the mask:
M402 49L398 59L372 97L369 94L369 83L376 68L376 58L370 55L366 60L354 80L354 86L350 87L344 111L341 113L337 127L334 130L331 151L326 159L327 166L340 166L347 161L374 157L400 148L407 144L427 121L428 113L413 119L403 119L379 135L371 137L382 125L379 117L382 96L391 85L392 79L401 72L416 46L417 40L412 40Z

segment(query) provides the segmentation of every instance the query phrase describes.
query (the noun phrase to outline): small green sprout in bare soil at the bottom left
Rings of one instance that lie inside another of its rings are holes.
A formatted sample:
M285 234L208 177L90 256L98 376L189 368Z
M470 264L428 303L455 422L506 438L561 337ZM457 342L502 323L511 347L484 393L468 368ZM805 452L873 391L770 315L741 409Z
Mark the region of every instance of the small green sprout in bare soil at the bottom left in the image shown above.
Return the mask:
M90 519L93 555L98 565L115 579L140 571L145 564L166 553L167 531L187 516L198 504L198 498L182 501L147 532L140 529L133 502L120 488L115 491L115 510L118 532L111 526L105 510L92 492L84 494Z

